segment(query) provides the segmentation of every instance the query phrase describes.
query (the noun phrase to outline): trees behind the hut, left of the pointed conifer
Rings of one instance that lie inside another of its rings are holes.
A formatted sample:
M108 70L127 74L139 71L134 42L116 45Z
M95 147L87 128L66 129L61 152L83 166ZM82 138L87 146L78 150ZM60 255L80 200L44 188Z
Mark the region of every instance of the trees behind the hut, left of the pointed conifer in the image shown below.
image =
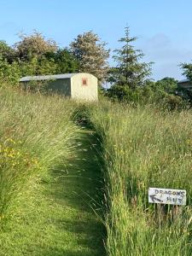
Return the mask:
M20 77L58 73L87 72L102 84L107 79L109 50L94 32L85 32L69 47L61 48L53 39L39 32L20 35L20 41L9 46L0 41L0 80L18 84Z

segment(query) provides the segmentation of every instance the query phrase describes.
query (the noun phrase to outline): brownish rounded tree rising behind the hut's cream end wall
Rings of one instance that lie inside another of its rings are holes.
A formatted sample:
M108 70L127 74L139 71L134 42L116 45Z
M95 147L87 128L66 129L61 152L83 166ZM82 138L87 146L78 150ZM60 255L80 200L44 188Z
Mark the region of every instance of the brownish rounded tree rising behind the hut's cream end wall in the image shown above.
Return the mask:
M101 42L96 33L84 32L70 44L73 55L79 61L79 72L91 73L96 76L100 84L108 73L109 49Z

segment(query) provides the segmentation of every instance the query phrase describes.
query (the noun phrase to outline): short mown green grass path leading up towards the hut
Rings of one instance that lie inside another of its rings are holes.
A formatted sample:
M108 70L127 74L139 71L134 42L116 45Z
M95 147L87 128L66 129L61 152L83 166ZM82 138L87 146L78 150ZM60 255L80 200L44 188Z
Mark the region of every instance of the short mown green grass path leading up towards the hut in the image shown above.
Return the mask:
M91 209L100 189L96 138L79 132L77 158L52 171L50 181L26 195L0 234L0 255L105 255L104 230ZM63 169L63 170L62 170Z

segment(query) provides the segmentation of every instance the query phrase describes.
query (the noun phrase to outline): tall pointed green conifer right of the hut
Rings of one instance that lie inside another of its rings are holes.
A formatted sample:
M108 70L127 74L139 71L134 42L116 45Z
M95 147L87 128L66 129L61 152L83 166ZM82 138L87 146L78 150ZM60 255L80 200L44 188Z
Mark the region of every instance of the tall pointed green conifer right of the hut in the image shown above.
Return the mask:
M119 42L124 45L121 49L114 50L116 55L113 59L117 62L117 67L110 69L108 77L110 83L136 89L138 86L143 86L148 79L152 62L140 62L143 52L140 49L134 49L131 45L136 40L137 38L130 37L129 27L125 27L125 37L119 39Z

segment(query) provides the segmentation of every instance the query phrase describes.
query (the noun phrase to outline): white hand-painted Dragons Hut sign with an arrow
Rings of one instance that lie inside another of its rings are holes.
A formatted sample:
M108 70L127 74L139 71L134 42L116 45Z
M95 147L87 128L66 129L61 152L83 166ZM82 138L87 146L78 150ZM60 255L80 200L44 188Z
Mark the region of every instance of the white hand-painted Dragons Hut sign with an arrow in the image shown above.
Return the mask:
M148 202L183 206L186 205L186 190L149 188Z

